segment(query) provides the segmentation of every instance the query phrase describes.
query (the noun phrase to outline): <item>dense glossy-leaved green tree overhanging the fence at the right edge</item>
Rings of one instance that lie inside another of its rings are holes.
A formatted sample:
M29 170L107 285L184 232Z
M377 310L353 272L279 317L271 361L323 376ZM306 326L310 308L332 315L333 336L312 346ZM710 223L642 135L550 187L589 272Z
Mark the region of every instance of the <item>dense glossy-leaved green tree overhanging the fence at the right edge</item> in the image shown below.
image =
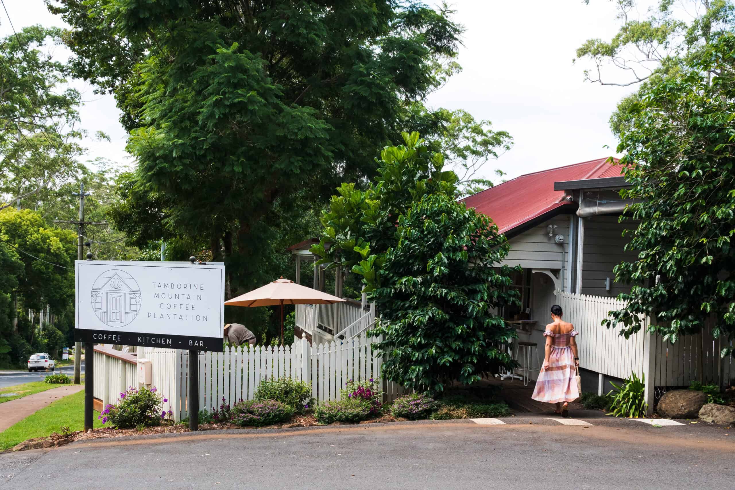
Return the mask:
M720 33L676 76L649 82L629 109L621 163L639 199L629 250L636 262L615 268L631 282L613 324L637 331L641 316L675 342L713 318L712 334L735 338L735 36ZM722 355L731 353L724 342Z

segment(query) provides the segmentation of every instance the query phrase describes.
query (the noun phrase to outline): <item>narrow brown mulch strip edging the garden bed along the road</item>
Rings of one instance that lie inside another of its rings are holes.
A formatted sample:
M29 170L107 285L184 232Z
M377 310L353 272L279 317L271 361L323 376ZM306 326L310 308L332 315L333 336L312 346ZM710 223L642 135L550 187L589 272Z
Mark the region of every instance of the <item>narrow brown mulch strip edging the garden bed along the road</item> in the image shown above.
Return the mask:
M396 420L400 420L400 419L395 419L394 417L387 415L387 416L383 416L380 418L364 420L359 423L360 424L371 424L371 423L376 423L376 422L395 422ZM314 414L306 413L306 414L295 414L293 417L291 417L291 419L288 422L282 422L276 425L268 425L267 427L262 427L262 428L263 429L288 429L288 428L295 428L295 427L312 427L315 425L320 425L320 424L319 422L317 422L317 419L314 417ZM334 422L331 425L348 425L348 424L345 422ZM199 430L228 430L228 429L257 429L257 427L252 427L252 426L242 427L240 425L232 424L230 422L199 424ZM137 430L135 428L113 429L111 427L108 427L108 428L90 430L90 432L87 432L87 433L85 433L83 430L77 430L76 432L67 433L67 434L58 434L54 432L51 434L51 436L48 436L48 437L37 437L35 439L29 439L27 441L21 442L20 444L13 447L12 451L23 451L23 450L29 450L29 449L60 447L65 444L69 444L70 442L88 441L90 439L110 439L112 437L145 436L149 434L180 433L180 432L189 432L188 425L167 423L165 425L146 427L143 430Z

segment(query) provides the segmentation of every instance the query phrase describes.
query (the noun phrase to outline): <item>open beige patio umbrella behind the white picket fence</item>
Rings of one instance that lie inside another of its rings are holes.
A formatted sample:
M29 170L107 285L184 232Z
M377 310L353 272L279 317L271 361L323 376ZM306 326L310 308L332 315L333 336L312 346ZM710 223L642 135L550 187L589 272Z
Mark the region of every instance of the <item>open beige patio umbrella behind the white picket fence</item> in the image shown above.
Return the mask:
M326 292L301 286L293 281L276 279L258 289L246 292L237 298L226 300L227 306L275 306L281 305L281 344L283 345L283 306L287 305L325 305L343 302L342 298Z

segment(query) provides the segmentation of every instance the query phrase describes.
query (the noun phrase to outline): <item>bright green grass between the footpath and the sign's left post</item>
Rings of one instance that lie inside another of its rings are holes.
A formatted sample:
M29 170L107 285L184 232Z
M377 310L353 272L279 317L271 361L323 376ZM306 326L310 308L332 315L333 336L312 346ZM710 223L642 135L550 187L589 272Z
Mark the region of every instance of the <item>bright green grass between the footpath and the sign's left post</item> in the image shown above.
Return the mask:
M59 386L59 385L51 385ZM0 450L10 449L26 439L50 436L51 433L61 433L62 426L69 430L85 428L85 392L70 394L57 400L46 408L41 408L33 415L29 415L7 430L0 432ZM102 421L94 412L94 427L102 426Z

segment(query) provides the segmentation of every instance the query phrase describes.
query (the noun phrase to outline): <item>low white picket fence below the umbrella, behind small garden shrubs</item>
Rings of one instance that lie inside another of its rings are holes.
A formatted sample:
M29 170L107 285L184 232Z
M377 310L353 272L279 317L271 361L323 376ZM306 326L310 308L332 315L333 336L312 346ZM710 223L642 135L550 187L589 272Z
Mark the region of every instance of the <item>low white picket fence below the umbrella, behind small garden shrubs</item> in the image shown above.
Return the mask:
M348 380L380 378L382 357L374 342L362 334L313 348L303 338L283 347L248 345L199 353L199 408L211 411L222 403L252 400L261 381L279 378L311 382L317 403L340 400ZM175 420L188 417L188 351L145 347L138 356L151 360L151 385L168 399L165 410L173 411ZM404 392L395 383L383 383L383 389L386 401Z

